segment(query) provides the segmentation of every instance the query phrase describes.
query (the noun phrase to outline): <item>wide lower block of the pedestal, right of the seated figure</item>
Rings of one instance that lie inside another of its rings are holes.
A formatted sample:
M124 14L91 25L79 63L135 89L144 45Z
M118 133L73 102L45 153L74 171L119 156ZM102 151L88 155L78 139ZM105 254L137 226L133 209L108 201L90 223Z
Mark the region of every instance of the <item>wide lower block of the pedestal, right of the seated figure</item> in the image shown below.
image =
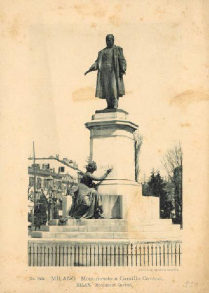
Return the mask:
M159 198L142 196L142 186L135 181L104 180L99 192L103 197L105 219L127 219L129 223L159 219Z

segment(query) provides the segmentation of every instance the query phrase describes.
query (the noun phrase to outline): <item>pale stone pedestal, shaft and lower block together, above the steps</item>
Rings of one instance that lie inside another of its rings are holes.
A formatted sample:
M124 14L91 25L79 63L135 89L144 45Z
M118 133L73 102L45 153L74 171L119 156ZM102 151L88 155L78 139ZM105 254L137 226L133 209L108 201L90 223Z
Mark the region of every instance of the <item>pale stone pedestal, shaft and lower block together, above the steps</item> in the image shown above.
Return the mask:
M104 218L158 219L159 199L142 196L142 187L135 181L134 131L138 125L128 119L122 109L96 111L85 124L90 130L90 160L97 164L95 174L113 171L99 187L103 196Z

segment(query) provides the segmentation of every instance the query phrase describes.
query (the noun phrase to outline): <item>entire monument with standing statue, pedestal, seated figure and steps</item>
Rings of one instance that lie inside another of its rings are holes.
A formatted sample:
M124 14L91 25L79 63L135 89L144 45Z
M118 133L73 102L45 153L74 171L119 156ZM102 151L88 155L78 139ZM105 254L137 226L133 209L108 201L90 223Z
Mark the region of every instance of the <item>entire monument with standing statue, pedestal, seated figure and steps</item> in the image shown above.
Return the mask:
M172 225L171 219L159 218L159 198L142 196L142 186L135 180L134 132L139 126L118 108L125 95L126 61L113 35L106 36L106 47L84 74L91 71L98 71L95 96L105 99L107 107L96 110L85 123L90 131L90 162L74 202L63 199L66 226L51 220L32 237L68 238L74 243L111 239L119 244L130 239L179 240L180 227Z

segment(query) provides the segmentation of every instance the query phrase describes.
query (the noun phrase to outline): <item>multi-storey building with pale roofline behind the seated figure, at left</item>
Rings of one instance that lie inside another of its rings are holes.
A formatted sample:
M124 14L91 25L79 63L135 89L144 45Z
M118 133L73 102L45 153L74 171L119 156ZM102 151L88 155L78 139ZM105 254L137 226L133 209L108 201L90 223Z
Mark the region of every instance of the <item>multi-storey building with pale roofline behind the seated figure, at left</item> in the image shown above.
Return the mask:
M62 210L62 199L73 195L79 182L81 171L72 160L59 159L56 155L48 158L28 158L28 221L32 221L34 198L36 206L41 197L47 200L47 220L59 219ZM35 196L34 196L35 178Z

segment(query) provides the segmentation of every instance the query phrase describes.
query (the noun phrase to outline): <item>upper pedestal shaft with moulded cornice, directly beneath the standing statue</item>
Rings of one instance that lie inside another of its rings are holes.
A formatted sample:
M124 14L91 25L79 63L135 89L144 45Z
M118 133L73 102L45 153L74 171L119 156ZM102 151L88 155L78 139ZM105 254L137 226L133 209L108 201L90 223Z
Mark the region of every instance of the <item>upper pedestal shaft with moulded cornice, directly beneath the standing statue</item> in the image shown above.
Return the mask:
M85 126L90 130L90 160L97 163L98 176L113 167L109 180L135 181L133 132L138 125L128 120L128 113L99 110Z

